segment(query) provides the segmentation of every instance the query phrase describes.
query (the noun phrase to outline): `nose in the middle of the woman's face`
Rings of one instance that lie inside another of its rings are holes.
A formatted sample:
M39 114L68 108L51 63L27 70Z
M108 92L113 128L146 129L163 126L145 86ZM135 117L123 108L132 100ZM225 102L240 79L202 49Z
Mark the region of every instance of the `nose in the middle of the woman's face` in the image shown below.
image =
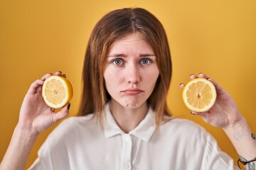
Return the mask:
M139 68L136 64L131 64L127 66L127 76L126 81L129 84L137 84L141 80L139 75Z

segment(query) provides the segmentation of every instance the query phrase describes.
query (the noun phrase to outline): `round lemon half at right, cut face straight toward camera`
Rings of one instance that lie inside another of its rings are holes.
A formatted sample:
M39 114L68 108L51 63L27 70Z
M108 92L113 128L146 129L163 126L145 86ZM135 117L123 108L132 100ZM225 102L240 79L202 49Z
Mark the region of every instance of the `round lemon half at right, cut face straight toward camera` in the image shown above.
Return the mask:
M213 107L217 94L212 82L197 78L188 81L182 91L182 98L191 111L205 112Z

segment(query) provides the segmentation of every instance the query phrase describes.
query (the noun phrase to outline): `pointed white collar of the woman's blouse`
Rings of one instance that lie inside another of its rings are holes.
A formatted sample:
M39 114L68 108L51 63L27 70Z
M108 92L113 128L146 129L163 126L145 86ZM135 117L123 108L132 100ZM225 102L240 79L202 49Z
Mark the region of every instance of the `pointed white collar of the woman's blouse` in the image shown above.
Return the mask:
M105 127L104 133L105 137L113 137L114 135L124 135L125 133L119 128L116 121L114 120L112 113L110 113L110 104L107 103L106 108L106 118L107 118L107 125ZM148 113L146 113L145 118L137 125L134 130L129 132L129 135L134 135L138 137L140 140L145 142L149 142L151 136L153 135L154 131L156 130L156 123L154 118L154 111L149 107Z

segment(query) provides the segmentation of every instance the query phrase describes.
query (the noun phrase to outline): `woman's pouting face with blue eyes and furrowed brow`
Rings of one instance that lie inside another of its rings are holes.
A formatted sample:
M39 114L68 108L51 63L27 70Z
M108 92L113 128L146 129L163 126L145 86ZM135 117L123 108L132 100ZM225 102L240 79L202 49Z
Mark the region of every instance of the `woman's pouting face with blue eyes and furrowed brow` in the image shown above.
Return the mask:
M112 102L127 108L142 106L154 90L158 77L156 55L139 33L113 43L104 72Z

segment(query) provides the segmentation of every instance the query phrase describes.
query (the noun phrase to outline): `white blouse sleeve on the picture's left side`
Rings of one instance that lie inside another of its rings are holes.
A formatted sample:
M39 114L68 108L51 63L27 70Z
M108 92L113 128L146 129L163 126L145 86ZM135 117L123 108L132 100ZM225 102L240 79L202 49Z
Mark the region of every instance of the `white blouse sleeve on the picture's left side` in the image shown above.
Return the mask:
M38 151L38 158L30 170L70 169L70 150L73 149L75 136L73 118L63 120L53 132L48 135Z

